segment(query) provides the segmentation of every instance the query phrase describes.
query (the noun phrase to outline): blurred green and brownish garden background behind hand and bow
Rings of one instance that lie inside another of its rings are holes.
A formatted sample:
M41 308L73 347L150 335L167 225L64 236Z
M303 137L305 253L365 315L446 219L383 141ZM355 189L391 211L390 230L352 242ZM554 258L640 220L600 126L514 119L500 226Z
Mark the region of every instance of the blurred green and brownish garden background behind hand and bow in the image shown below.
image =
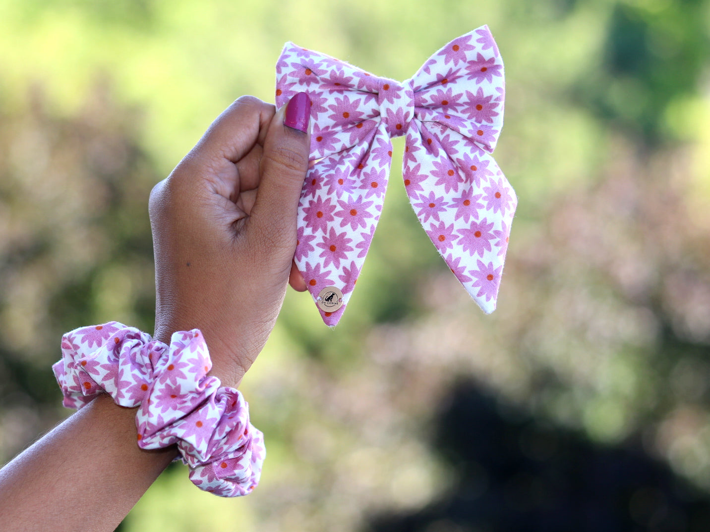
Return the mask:
M0 0L0 461L69 414L63 332L152 331L148 193L233 99L273 101L285 41L405 79L484 23L520 199L498 310L395 162L339 326L290 292L244 379L258 489L173 465L120 528L709 530L709 0Z

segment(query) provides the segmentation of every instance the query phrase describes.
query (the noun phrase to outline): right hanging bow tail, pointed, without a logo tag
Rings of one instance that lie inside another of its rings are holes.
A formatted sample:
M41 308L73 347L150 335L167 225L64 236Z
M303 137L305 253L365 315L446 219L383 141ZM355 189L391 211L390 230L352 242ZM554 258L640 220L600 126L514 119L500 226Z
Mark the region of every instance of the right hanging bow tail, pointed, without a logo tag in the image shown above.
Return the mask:
M491 155L438 123L412 121L405 145L405 189L422 228L490 314L518 203L513 188Z

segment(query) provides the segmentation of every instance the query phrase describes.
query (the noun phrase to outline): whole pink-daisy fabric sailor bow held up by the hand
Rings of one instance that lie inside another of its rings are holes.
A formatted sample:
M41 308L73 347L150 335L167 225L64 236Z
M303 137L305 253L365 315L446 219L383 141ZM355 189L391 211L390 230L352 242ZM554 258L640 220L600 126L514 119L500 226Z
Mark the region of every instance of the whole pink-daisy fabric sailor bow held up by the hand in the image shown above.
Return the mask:
M293 43L276 74L277 106L298 92L312 102L295 262L323 321L337 324L350 299L382 211L391 138L402 135L417 218L481 309L496 309L518 200L489 155L505 91L488 26L452 40L401 83Z

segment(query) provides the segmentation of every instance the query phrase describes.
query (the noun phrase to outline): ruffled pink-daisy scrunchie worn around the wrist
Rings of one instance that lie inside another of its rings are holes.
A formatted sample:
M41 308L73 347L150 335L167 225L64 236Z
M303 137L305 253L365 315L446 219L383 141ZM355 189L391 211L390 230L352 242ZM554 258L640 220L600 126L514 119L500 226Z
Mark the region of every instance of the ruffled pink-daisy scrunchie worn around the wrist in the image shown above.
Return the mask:
M197 487L238 497L256 487L266 448L241 392L207 377L211 368L198 329L173 333L168 347L116 321L66 333L52 366L64 406L80 409L104 392L120 406L140 406L139 447L177 443Z

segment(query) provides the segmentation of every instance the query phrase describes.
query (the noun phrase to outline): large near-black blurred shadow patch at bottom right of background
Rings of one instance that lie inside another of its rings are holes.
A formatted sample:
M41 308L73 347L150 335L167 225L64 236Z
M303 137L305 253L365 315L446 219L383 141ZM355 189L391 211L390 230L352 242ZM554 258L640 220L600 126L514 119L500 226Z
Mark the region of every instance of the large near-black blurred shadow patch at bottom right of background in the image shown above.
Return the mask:
M596 445L542 426L474 382L442 405L435 450L454 489L412 514L373 516L371 532L706 532L710 498L638 443Z

